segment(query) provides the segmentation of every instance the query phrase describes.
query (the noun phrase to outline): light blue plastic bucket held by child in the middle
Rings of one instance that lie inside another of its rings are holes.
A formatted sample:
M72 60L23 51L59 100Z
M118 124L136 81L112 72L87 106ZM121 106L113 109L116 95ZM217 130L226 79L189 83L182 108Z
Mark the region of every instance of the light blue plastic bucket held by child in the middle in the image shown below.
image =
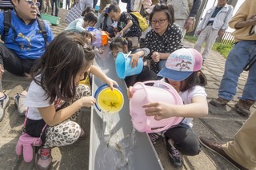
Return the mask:
M119 52L117 58L115 59L115 69L119 78L124 79L127 76L132 76L142 72L143 60L142 57L138 58L137 67L132 68L130 65L131 57L128 57L130 53Z

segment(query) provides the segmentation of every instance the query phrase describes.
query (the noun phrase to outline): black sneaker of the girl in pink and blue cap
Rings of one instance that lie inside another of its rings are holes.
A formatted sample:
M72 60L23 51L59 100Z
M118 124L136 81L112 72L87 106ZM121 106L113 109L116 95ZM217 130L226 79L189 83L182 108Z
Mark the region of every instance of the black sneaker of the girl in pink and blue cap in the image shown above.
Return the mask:
M182 168L182 156L180 155L180 152L177 150L177 148L170 144L167 138L165 139L165 143L171 164L173 164L176 168Z

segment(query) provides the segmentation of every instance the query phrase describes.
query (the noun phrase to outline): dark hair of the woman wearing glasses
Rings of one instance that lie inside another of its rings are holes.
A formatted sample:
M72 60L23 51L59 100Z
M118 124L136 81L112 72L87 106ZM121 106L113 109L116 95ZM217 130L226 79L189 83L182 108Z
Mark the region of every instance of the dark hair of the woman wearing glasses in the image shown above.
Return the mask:
M150 14L150 22L153 18L154 13L164 11L167 15L168 21L170 25L174 23L174 7L172 5L165 5L165 4L157 4L154 6L153 11Z

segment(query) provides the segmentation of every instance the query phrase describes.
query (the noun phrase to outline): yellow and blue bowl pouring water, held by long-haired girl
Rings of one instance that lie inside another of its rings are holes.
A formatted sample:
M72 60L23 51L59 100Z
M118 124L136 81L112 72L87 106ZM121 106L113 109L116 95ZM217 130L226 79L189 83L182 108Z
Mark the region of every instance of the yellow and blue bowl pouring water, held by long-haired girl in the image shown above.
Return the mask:
M122 90L114 85L113 91L108 85L100 86L95 94L96 108L102 113L118 113L124 104Z

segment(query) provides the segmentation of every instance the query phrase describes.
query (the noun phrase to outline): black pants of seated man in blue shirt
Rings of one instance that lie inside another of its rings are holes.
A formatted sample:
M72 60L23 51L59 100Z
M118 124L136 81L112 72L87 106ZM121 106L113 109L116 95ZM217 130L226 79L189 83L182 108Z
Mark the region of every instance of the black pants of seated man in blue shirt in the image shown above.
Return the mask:
M6 45L0 42L0 64L4 66L8 72L17 76L24 76L30 73L31 67L38 59L22 59L14 53L12 49L8 49Z

